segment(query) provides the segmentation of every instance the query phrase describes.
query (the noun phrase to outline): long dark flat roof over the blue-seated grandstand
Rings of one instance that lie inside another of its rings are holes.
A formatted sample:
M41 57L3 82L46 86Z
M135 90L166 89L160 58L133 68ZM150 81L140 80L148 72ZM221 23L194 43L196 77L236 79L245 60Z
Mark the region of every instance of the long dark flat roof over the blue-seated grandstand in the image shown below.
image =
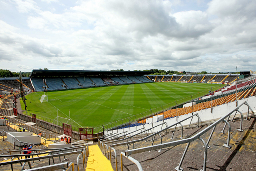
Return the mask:
M114 76L114 75L148 75L151 71L84 71L84 70L39 70L33 69L30 76Z

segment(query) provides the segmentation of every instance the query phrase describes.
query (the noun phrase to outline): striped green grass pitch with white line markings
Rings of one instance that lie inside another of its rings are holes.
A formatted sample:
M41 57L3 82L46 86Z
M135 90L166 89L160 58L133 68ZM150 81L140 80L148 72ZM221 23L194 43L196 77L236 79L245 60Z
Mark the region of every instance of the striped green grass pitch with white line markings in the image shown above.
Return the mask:
M71 124L78 127L96 127L109 122L144 113L149 115L205 95L223 87L219 84L191 84L175 82L154 82L147 84L129 84L63 91L48 91L48 101L39 100L44 92L35 92L26 96L27 110L30 113L51 119L57 116L69 118ZM21 102L22 109L24 104ZM137 115L136 118L142 115ZM133 118L134 119L134 118ZM60 119L63 123L68 120Z

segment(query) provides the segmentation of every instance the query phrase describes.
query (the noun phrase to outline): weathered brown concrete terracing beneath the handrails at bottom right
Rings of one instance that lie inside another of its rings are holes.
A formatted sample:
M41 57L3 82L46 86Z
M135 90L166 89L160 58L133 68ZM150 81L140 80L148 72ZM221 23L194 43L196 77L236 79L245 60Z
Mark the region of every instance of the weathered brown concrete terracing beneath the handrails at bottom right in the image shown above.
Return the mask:
M207 154L206 171L255 171L256 170L256 118L250 120L243 120L243 132L237 131L240 126L240 120L230 122L231 138L230 149L223 146L227 141L228 128L226 127L225 134L220 133L224 124L217 125L211 141L209 143L210 149ZM190 128L184 130L184 138L195 135L202 131L207 126L200 126L199 128ZM208 131L201 138L208 140L211 131ZM174 140L180 138L181 131L176 131ZM164 142L170 142L172 133L161 134ZM154 144L160 144L160 138L155 140ZM149 139L151 140L151 138ZM137 142L135 148L150 146L151 141ZM179 146L168 147L158 151L143 152L131 155L132 158L138 160L144 171L173 171L179 165L182 154L187 144ZM132 144L130 149L132 149ZM119 146L117 149L118 170L120 167L120 152L127 150L127 146ZM111 153L112 167L115 168L114 155ZM182 168L184 171L197 171L203 168L204 161L204 147L200 140L192 142L189 146L187 154L184 158ZM130 160L123 157L124 171L137 171L138 168Z

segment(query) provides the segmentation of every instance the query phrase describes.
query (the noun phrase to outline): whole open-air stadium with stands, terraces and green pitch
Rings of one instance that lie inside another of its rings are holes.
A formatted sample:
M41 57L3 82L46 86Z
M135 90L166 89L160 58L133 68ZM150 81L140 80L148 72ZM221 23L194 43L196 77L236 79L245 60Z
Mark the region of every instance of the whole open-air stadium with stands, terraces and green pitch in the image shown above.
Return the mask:
M33 70L0 78L1 168L255 169L255 75L150 73ZM23 159L26 144L33 153ZM239 157L251 164L237 166Z

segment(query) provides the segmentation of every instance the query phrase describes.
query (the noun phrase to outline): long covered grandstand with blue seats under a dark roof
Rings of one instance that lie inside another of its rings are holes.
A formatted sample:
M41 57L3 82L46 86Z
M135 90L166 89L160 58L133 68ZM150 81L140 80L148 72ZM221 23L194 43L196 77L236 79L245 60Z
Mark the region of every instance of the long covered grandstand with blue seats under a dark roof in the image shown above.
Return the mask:
M81 87L99 87L129 83L151 82L143 75L151 72L147 71L62 71L62 70L33 70L30 74L32 84L36 91L44 91L46 84L47 90L74 89ZM74 76L75 75L75 76ZM124 79L124 75L130 79ZM121 77L121 78L120 78ZM44 81L46 80L46 81ZM145 81L143 81L145 80Z

